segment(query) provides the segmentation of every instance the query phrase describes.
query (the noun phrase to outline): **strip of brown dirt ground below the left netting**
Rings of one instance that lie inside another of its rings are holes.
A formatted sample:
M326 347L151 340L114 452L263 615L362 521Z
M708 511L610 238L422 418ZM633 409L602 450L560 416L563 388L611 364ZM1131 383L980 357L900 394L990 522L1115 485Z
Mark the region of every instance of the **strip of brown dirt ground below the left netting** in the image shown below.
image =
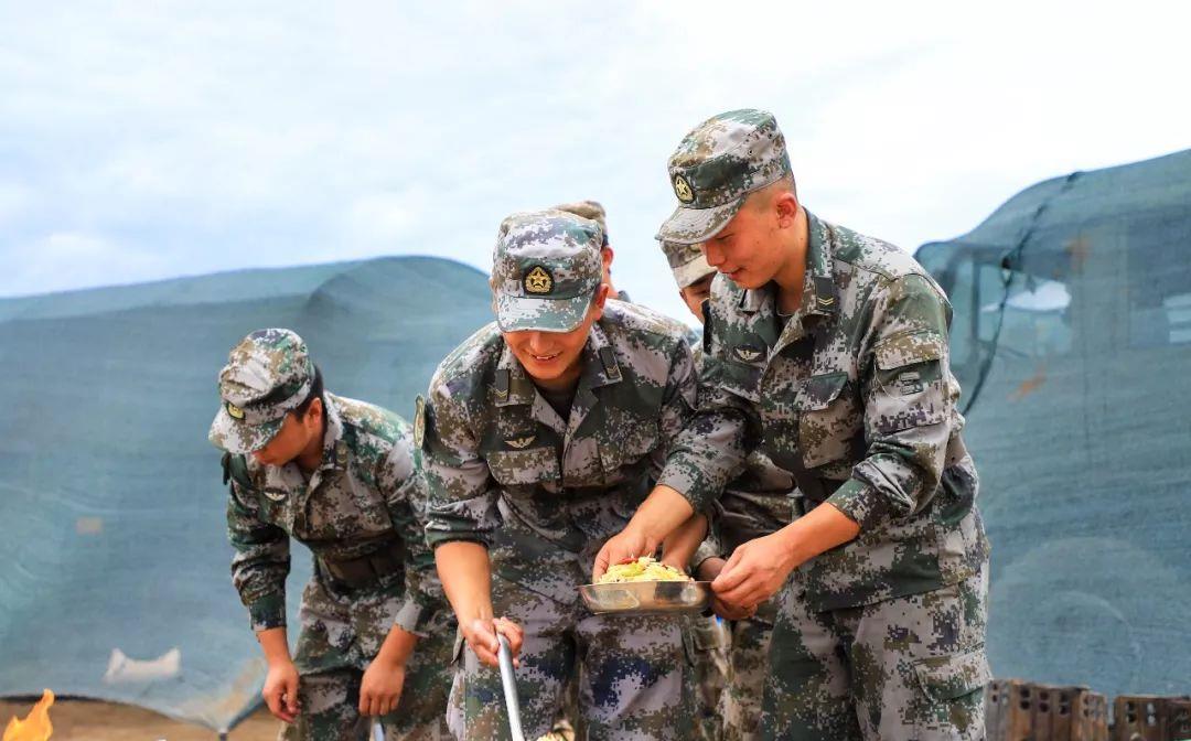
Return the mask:
M12 716L25 717L35 700L0 700L0 729ZM56 699L50 708L52 741L211 741L219 736L200 726L180 723L151 710L81 699ZM281 723L261 709L227 735L230 741L273 741Z

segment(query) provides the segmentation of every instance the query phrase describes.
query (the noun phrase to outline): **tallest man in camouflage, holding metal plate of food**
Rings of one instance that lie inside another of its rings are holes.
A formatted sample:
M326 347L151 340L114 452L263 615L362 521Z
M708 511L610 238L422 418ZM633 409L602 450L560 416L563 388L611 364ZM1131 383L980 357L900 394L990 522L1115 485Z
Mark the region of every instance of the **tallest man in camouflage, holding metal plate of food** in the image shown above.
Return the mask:
M735 413L722 454L759 446L793 474L805 512L738 547L712 585L757 604L796 569L772 639L765 737L983 737L989 546L947 298L906 253L802 207L766 112L699 125L669 178L680 205L660 238L701 244L723 274L700 416ZM599 560L665 536L686 515L676 502L654 492L638 510L650 519Z

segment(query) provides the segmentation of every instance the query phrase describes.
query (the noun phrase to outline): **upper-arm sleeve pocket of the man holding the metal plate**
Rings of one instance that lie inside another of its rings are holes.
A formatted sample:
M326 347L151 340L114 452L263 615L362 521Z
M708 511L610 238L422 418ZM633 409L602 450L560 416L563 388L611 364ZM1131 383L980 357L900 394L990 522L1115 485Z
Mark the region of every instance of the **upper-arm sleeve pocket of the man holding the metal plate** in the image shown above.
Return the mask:
M871 394L878 432L892 435L947 419L944 354L946 340L936 332L898 335L873 349L877 369Z

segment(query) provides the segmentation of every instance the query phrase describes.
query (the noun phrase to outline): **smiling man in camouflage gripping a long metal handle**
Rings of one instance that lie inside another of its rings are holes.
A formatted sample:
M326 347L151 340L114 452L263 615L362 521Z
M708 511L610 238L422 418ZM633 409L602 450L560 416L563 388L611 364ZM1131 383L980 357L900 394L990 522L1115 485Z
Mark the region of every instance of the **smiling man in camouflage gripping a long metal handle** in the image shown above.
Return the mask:
M463 739L509 737L498 630L519 649L528 737L549 730L576 661L580 739L688 736L681 623L593 616L579 599L596 549L654 480L700 506L716 491L694 462L713 444L684 431L697 386L682 328L605 300L601 242L597 223L561 211L505 219L497 322L443 360L419 400L426 536L470 648L453 690Z

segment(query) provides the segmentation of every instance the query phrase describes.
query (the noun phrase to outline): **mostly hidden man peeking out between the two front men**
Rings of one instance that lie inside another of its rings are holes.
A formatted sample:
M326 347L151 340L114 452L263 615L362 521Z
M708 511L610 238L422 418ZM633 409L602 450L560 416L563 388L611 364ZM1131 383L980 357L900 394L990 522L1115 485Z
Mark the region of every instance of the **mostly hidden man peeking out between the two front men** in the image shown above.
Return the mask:
M711 295L716 269L707 264L698 245L662 242L679 295L691 313L703 322L704 301ZM694 348L696 368L701 368L703 347ZM782 529L794 517L794 480L760 449L749 452L743 473L724 488L715 504L715 533L699 547L693 566L703 581L719 575L737 546ZM769 672L769 639L778 614L778 598L742 610L715 602L716 611L729 619L727 687L719 699L725 741L760 737L761 695Z

